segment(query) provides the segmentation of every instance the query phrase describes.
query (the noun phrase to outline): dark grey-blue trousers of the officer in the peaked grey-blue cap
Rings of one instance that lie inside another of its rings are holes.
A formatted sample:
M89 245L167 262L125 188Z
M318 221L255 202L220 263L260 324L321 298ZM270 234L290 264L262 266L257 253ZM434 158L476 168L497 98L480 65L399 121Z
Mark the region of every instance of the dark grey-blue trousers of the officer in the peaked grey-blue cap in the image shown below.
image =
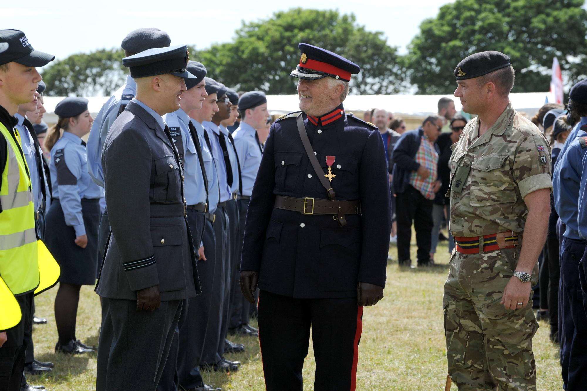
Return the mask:
M102 298L96 390L154 391L176 332L181 300L137 311L134 300Z

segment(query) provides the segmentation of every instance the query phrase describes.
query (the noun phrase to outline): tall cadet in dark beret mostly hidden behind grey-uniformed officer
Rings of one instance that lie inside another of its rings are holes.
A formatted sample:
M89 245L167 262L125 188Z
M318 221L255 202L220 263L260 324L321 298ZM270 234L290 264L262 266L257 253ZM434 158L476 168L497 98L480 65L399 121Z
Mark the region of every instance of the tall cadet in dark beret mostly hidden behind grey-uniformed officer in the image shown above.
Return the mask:
M171 38L166 32L156 28L140 28L128 33L120 46L124 50L124 56L128 57L147 49L166 48L170 43ZM131 75L127 75L124 85L104 103L94 119L87 139L87 171L98 186L104 187L104 170L102 169L104 140L114 120L124 111L124 107L135 95L137 95L137 83ZM100 261L104 257L104 247L106 247L109 231L108 211L104 208L98 228L98 259Z

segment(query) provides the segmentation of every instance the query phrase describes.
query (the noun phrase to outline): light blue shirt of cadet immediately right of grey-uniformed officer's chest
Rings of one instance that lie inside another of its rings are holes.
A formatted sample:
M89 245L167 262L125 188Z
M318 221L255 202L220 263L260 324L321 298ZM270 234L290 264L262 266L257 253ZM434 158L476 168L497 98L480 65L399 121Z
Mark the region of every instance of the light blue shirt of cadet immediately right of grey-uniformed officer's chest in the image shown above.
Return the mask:
M200 167L197 150L190 133L190 117L184 110L177 110L165 114L165 123L169 127L171 139L176 144L177 150L183 156L184 165L184 192L188 205L205 204L206 189L204 188L204 177ZM179 132L179 137L176 136Z

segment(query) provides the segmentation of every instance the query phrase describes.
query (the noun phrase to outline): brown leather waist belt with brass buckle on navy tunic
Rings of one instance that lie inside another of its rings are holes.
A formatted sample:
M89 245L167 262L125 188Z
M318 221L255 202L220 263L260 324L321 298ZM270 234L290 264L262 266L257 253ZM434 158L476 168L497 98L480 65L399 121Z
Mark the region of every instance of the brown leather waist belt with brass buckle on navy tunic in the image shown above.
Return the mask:
M341 227L346 224L345 214L361 213L359 200L329 201L313 197L295 198L276 195L274 207L301 214L329 214L334 220L338 220Z

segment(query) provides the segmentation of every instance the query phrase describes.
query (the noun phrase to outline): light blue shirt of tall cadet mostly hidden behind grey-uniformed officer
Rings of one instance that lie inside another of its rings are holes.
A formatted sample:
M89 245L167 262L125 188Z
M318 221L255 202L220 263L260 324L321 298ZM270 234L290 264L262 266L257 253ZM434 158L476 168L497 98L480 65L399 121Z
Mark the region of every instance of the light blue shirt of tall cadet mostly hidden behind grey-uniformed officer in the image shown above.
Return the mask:
M87 138L87 170L92 180L104 187L104 170L102 170L102 148L110 126L117 119L120 106L126 106L137 93L137 83L130 75L126 76L126 83L104 103L98 112L90 136Z

